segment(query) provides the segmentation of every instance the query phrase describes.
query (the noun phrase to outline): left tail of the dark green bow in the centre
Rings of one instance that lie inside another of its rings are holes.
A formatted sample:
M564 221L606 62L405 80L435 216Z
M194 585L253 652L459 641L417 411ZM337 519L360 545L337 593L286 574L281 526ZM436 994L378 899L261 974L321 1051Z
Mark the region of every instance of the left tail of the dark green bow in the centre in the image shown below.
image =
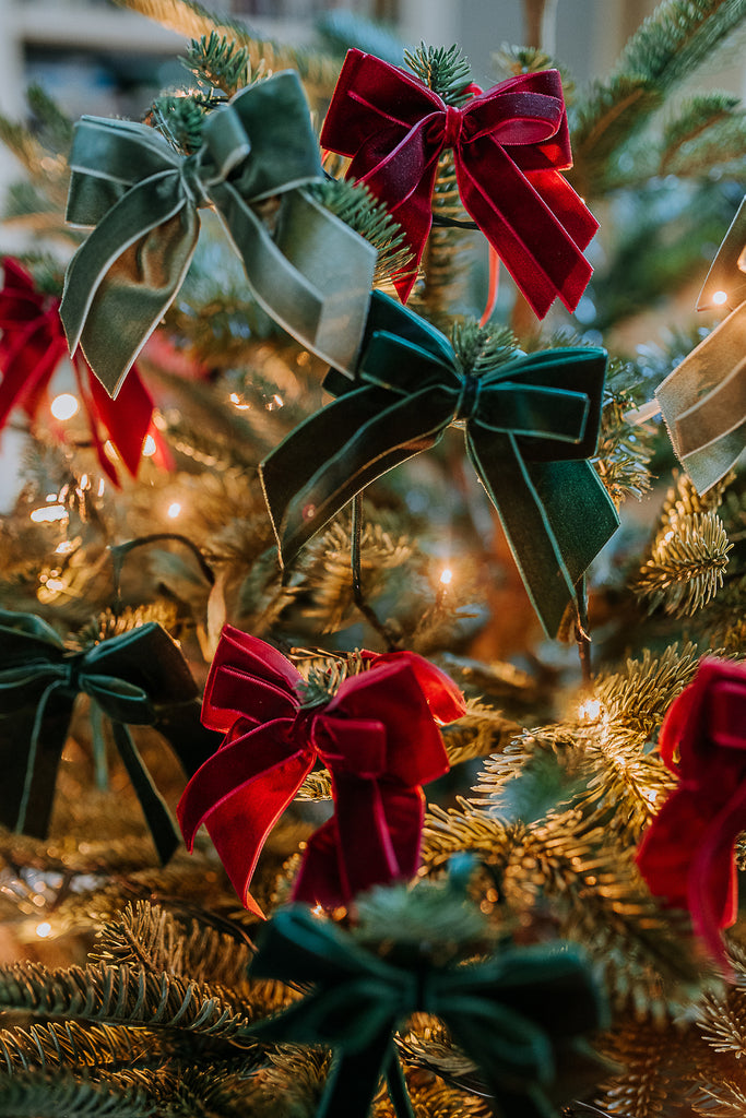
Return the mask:
M432 397L432 390L407 399L377 387L355 389L265 458L259 476L283 566L366 485L437 442L447 417L434 414Z

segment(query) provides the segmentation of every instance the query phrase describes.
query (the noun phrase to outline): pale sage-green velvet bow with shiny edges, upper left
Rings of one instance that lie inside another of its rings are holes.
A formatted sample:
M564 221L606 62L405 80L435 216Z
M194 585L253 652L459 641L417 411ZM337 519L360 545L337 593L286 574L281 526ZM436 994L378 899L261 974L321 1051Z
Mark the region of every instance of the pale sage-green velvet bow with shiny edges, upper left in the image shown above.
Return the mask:
M353 360L376 249L299 188L322 177L300 79L275 74L210 113L185 158L151 127L84 116L70 154L67 220L95 226L67 269L72 351L115 396L177 295L214 206L256 301L340 368ZM277 197L274 234L253 208Z

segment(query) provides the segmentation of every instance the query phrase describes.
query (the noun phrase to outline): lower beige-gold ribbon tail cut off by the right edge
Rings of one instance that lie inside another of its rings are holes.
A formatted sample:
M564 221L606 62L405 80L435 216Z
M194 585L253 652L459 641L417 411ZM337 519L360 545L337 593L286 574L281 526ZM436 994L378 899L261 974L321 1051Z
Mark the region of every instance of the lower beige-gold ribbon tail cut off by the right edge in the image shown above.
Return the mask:
M698 493L731 470L746 446L746 302L655 389L677 457Z

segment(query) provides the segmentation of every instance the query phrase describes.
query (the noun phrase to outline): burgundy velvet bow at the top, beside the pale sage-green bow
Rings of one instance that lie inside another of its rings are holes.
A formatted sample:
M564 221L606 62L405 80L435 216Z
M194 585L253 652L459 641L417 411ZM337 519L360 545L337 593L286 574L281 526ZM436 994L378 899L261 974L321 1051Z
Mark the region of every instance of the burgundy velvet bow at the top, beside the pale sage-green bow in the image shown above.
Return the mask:
M557 70L521 74L463 108L405 70L349 50L321 132L351 155L348 177L390 210L414 260L397 281L406 302L432 225L437 161L453 149L464 207L544 318L559 296L573 311L591 278L583 255L598 224L559 173L573 165Z

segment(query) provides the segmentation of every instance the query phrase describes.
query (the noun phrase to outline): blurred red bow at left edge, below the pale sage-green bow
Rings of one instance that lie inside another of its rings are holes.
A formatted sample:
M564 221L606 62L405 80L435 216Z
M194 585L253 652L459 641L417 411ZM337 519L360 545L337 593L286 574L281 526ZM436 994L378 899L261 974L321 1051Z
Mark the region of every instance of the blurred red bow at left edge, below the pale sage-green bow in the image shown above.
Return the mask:
M6 257L3 267L6 282L0 291L0 429L17 406L21 406L29 418L36 417L47 399L49 381L57 366L67 357L67 341L59 320L59 300L39 292L32 276L12 257ZM130 373L114 401L79 352L72 358L72 362L101 467L117 484L116 471L104 451L106 437L134 475L150 427L153 401L136 369Z

